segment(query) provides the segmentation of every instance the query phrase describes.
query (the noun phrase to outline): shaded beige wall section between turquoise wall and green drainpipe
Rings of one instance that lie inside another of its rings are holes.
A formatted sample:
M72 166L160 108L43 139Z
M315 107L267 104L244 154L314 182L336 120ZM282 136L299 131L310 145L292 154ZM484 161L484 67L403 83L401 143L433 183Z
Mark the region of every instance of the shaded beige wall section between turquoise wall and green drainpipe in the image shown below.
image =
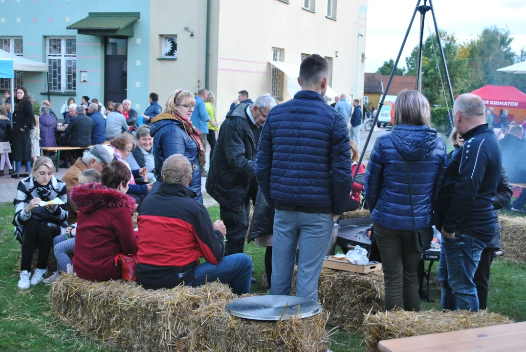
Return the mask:
M217 1L218 2L218 1ZM149 89L165 106L176 89L192 94L205 86L207 0L152 0L150 3ZM194 36L190 32L194 30ZM161 35L177 35L177 59L161 58ZM208 87L209 88L209 87Z

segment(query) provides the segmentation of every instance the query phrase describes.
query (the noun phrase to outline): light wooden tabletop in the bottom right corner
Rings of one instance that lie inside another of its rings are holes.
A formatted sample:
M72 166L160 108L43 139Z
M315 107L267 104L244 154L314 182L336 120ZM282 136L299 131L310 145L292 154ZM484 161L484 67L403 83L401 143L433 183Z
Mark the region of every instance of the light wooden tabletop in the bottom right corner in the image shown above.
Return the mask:
M526 321L383 340L378 344L378 350L380 352L524 351L526 350Z

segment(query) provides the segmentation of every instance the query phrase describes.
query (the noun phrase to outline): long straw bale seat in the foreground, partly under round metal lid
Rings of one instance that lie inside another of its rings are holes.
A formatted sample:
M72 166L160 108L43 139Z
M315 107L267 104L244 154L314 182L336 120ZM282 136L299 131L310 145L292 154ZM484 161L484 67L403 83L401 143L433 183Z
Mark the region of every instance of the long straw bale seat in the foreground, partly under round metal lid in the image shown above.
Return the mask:
M65 323L125 351L326 351L326 315L259 323L230 316L227 285L145 290L135 283L92 283L63 275L52 309Z

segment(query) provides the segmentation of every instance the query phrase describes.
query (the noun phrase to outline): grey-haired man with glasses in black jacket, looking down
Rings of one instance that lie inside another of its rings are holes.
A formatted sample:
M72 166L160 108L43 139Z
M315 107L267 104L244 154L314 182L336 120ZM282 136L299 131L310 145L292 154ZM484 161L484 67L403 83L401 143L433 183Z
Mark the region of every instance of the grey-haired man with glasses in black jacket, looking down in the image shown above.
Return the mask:
M225 254L243 253L247 234L250 198L255 199L257 184L254 160L261 127L276 100L263 94L254 104L240 103L221 125L210 162L206 192L220 205L227 228Z

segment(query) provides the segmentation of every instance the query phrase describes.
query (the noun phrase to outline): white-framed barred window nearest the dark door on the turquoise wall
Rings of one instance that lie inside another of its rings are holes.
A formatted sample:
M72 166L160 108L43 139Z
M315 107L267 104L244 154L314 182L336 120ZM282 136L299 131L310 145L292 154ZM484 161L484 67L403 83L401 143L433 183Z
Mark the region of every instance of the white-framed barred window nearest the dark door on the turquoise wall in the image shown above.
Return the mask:
M48 37L47 72L50 92L77 90L77 39L75 37Z

